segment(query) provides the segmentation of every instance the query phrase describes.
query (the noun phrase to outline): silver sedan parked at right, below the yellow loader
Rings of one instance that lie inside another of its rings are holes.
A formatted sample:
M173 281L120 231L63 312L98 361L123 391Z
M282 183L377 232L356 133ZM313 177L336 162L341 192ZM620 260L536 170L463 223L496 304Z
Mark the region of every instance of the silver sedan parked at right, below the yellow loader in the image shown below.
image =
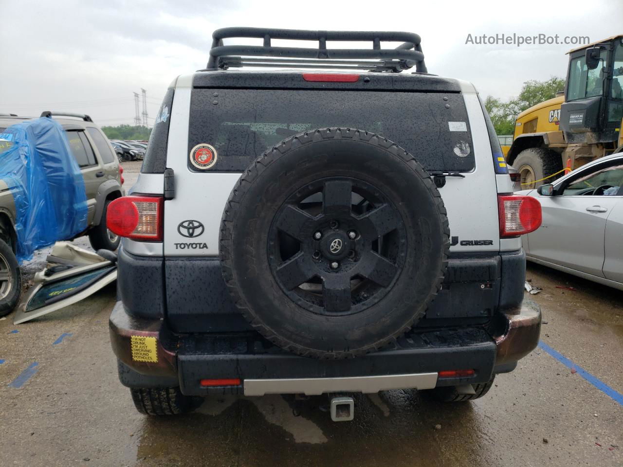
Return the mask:
M541 227L522 237L529 261L623 290L623 153L516 194L543 207Z

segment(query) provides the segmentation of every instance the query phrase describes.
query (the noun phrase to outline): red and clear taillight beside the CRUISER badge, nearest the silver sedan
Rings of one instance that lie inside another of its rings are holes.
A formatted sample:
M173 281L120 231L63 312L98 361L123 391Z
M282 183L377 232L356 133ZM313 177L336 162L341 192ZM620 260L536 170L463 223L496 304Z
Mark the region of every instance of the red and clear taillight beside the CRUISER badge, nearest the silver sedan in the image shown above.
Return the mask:
M518 237L541 225L541 203L531 196L498 196L500 237Z

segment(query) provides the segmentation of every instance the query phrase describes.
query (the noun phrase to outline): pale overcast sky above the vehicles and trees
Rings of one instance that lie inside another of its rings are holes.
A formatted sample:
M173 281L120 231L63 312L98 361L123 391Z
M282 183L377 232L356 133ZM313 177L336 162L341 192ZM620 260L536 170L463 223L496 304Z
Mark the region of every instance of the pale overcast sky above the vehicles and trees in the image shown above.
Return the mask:
M622 0L0 0L0 6L0 112L76 111L100 125L131 124L133 92L141 88L155 117L171 80L206 66L219 27L417 32L430 73L469 80L481 94L504 99L526 80L564 77L565 53L574 46L472 45L465 44L468 34L595 41L623 33Z

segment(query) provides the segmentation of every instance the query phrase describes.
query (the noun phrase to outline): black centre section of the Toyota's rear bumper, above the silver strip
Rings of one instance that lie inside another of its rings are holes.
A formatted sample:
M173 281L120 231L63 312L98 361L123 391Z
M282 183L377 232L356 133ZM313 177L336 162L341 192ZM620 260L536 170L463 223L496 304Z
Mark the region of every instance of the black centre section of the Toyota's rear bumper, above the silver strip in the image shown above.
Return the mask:
M224 390L242 394L242 387L201 387L201 379L343 378L459 369L474 369L475 375L439 380L437 385L472 384L490 379L496 354L495 342L480 328L411 333L386 349L346 360L299 357L265 345L240 337L185 339L178 351L183 394L222 394Z

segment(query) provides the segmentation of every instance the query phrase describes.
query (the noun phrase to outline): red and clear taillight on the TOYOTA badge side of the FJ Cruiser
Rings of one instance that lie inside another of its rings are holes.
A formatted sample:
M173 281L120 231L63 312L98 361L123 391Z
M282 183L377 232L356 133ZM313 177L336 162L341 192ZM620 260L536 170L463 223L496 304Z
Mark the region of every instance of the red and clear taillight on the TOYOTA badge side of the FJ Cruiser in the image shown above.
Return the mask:
M107 208L106 225L120 237L162 240L162 197L122 196Z

